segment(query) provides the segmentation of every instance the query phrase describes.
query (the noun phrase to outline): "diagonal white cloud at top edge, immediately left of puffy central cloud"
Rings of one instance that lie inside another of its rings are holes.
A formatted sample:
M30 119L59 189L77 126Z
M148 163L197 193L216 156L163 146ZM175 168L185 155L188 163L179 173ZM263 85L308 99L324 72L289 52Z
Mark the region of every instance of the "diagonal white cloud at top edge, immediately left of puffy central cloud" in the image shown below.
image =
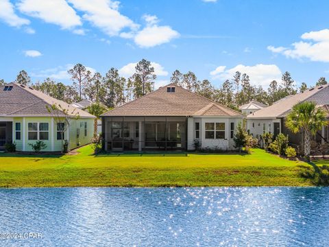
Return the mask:
M119 2L110 0L69 0L73 7L86 12L82 17L108 36L117 36L123 28L136 30L138 25L127 16L120 14Z

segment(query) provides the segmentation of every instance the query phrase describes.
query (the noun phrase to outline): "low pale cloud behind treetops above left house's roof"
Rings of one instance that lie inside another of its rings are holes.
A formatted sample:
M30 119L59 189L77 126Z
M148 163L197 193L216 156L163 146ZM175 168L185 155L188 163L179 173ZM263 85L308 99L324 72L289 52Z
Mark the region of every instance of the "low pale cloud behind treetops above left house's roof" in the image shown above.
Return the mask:
M58 66L56 68L45 69L41 71L32 72L31 75L36 78L52 78L54 80L69 80L70 75L67 73L69 69L72 69L74 64L66 64L65 66ZM92 74L96 72L95 69L86 67Z

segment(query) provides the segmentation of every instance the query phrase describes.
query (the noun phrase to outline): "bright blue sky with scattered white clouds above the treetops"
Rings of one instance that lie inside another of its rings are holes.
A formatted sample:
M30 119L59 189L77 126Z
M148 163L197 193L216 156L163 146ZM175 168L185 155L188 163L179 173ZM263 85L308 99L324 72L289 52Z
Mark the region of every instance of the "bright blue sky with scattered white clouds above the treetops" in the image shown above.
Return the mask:
M265 89L289 71L297 86L329 79L329 1L0 0L0 79L32 81L82 63L122 76L151 61L156 87L175 69L215 86L235 71Z

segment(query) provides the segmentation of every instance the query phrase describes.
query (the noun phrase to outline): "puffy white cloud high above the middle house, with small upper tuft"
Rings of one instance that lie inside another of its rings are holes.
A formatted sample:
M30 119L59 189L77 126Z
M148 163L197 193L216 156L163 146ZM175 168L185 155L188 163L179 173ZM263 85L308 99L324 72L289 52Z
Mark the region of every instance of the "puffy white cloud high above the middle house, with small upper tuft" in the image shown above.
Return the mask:
M162 45L170 42L173 38L178 38L180 34L168 25L158 25L158 17L145 14L143 19L147 25L143 30L138 31L134 36L136 45L147 48Z

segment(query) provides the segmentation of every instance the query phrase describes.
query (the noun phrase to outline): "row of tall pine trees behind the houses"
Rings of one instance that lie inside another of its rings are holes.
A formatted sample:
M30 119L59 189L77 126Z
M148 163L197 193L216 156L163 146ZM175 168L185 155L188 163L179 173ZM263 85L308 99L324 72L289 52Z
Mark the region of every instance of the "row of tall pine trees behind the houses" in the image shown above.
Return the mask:
M122 77L119 75L119 70L113 67L105 75L98 72L91 73L83 64L75 64L67 72L71 77L71 85L56 82L51 78L46 78L43 82L32 83L31 78L24 70L19 72L15 82L32 86L36 90L69 104L82 99L90 99L107 108L120 106L154 91L156 82L154 67L145 59L136 64L134 74L130 78ZM297 89L288 71L282 74L280 82L276 80L270 82L267 90L262 86L252 85L249 75L239 71L236 71L233 78L226 80L221 86L214 86L209 80L199 80L192 71L181 73L178 69L173 71L170 81L188 91L236 110L239 106L252 100L271 105L288 95L308 89L305 82L302 82L300 88ZM321 77L316 85L327 83L326 78ZM0 80L1 84L5 84L4 80Z

